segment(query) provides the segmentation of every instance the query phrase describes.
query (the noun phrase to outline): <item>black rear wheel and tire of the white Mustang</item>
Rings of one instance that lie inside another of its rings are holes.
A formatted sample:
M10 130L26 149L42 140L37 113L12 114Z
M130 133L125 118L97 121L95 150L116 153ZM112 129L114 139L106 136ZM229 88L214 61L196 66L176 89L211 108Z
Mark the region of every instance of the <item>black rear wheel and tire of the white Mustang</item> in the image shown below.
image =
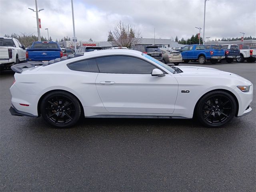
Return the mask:
M40 112L51 126L68 128L78 122L82 109L74 95L65 91L54 91L42 99Z

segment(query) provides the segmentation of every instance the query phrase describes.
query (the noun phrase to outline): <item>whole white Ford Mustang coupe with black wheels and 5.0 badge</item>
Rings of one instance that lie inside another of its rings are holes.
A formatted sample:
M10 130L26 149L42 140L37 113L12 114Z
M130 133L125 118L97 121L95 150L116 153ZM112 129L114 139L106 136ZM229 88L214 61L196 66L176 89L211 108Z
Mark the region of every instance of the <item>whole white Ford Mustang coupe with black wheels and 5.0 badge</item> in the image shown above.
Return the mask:
M252 111L253 86L213 68L170 67L134 50L12 66L10 112L64 128L86 118L197 118L220 127Z

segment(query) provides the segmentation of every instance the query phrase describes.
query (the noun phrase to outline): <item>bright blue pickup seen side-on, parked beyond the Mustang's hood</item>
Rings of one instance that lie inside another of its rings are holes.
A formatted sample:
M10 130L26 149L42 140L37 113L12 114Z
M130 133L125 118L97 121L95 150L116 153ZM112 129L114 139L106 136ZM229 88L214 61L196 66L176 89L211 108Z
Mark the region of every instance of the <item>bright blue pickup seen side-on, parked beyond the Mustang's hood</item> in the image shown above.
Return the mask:
M206 46L197 44L184 46L180 52L185 63L198 60L200 64L205 64L206 61L215 64L225 58L224 49L206 49Z

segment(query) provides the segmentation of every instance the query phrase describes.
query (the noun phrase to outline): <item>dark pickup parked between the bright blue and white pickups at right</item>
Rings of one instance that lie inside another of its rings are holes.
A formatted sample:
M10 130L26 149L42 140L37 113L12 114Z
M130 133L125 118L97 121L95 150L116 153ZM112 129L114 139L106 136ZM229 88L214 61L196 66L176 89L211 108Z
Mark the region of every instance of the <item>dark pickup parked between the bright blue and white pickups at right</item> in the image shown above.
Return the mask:
M231 63L234 59L240 57L240 50L236 44L226 44L226 45L206 45L207 49L225 49L226 62Z

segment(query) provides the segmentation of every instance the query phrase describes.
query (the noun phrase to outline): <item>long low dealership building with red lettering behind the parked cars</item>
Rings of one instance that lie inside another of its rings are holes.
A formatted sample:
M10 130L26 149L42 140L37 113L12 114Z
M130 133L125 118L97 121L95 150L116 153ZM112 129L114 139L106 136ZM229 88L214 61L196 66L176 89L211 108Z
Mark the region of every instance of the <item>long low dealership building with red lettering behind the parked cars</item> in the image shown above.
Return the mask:
M64 47L72 47L72 41L62 41L58 42L58 44ZM171 39L154 39L154 38L141 38L140 42L136 45L165 45L166 47L183 47L185 45L178 44L178 42L174 42ZM103 49L109 49L114 47L114 42L111 41L98 41L98 42L91 42L91 41L79 41L77 42L77 46L100 46Z

